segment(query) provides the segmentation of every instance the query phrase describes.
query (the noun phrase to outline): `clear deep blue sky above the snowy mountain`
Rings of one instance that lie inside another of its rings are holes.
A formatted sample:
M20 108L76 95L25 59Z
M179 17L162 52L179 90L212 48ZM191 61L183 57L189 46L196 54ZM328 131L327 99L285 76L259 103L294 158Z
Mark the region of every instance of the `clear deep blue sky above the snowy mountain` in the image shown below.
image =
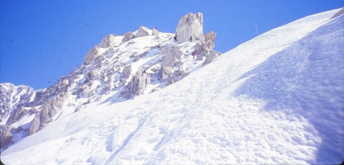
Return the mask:
M203 31L217 32L215 50L227 52L257 36L255 24L261 34L344 6L344 0L0 1L0 82L34 89L80 66L107 34L141 25L175 32L189 12L203 13Z

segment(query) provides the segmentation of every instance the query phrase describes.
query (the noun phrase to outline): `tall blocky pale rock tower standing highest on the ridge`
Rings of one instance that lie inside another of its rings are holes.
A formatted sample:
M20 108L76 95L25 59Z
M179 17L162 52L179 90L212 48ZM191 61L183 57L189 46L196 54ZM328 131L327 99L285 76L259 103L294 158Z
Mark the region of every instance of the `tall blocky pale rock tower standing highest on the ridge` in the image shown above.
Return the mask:
M202 13L187 13L179 20L177 31L178 43L191 41L201 41L204 43L203 37L203 15Z

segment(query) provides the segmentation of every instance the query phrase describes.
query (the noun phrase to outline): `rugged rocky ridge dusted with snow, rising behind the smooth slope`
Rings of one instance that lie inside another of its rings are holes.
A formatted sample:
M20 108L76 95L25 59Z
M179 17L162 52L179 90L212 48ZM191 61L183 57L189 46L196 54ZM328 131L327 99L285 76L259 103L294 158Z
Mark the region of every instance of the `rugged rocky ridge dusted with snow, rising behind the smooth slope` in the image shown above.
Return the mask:
M185 78L221 55L213 50L215 37L213 31L203 34L202 13L187 13L175 34L144 26L109 34L79 68L45 89L0 84L1 150L44 129L65 107L78 112L104 98L126 101Z

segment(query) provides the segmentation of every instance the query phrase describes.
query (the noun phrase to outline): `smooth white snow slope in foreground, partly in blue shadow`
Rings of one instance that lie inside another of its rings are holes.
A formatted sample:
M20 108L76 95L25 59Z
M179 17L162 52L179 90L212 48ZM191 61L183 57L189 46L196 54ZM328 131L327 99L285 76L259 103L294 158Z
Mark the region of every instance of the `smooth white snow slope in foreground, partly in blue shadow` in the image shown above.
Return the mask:
M94 102L5 150L6 164L338 164L344 17L304 17L152 94ZM63 112L72 112L65 107Z

